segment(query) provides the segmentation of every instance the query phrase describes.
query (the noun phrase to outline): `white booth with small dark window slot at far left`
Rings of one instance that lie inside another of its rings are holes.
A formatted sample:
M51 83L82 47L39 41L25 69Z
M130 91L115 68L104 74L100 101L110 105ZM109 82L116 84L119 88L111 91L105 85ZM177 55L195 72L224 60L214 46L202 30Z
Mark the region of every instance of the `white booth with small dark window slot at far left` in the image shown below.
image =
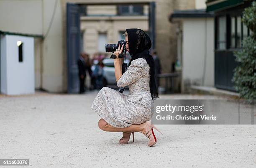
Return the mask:
M23 61L18 59L17 41L23 42ZM24 36L1 37L1 92L8 95L35 92L34 39Z

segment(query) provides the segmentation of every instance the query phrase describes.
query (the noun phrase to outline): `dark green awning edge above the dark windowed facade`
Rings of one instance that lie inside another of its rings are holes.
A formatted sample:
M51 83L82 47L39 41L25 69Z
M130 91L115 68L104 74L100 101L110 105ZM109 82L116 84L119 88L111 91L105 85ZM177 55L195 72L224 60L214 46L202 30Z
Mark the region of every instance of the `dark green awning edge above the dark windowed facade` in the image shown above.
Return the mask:
M244 0L207 0L206 11L218 11L243 4Z

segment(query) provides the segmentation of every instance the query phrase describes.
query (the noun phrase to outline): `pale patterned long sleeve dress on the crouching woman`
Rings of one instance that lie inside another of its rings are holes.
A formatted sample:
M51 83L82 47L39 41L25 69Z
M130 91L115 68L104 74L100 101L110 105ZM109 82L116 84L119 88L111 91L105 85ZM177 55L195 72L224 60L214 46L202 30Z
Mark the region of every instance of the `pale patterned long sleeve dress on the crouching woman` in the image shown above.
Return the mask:
M118 87L129 87L128 95L103 87L91 108L113 127L124 128L151 120L154 106L149 70L146 59L133 60L117 82Z

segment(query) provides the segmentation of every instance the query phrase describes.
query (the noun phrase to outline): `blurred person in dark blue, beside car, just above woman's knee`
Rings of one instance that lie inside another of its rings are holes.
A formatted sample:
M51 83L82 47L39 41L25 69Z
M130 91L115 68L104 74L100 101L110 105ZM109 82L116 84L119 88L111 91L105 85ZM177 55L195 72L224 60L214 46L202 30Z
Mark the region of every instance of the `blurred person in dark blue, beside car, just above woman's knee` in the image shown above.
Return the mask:
M95 89L102 89L103 87L103 59L99 59L98 64L95 65L95 69L93 71L94 76L94 88Z

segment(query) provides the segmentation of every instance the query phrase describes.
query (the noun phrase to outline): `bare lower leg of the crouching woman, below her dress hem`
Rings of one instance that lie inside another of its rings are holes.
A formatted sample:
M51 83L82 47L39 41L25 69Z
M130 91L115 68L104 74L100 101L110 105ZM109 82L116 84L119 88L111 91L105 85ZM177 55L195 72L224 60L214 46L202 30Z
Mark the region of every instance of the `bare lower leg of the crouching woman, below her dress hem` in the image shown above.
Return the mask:
M100 119L99 120L99 127L101 130L103 131L108 131L108 132L141 132L141 133L145 133L146 129L144 127L145 123L143 124L133 124L130 127L126 127L126 128L116 128L113 127L111 125L109 125L105 120Z

